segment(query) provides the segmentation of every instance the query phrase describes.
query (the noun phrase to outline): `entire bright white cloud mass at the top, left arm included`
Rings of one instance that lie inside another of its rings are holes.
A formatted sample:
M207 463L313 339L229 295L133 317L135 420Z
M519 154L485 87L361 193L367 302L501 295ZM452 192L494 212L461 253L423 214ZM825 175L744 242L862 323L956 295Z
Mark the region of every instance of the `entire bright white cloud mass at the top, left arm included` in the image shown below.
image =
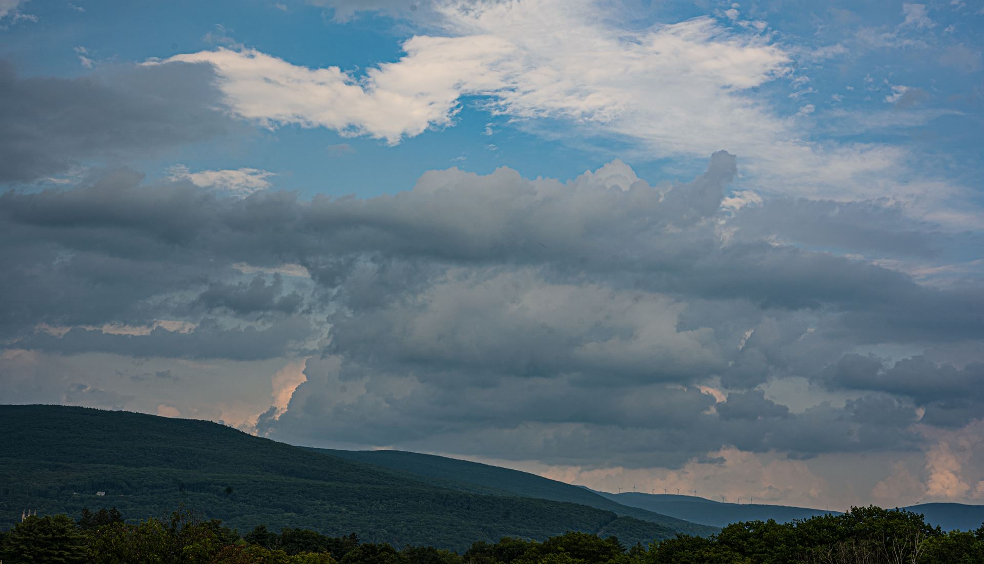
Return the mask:
M517 18L537 17L542 10L553 8L448 8L442 18L454 36L414 36L403 43L403 58L370 68L362 79L338 67L307 69L250 49L203 51L168 61L212 65L229 105L261 124L323 126L391 144L429 127L451 125L464 95L490 96L492 109L519 118L562 117L637 137L640 132L632 129L641 118L647 127L672 120L654 132L670 137L652 141L675 154L713 151L722 130L737 133L740 128L744 136L750 128L755 135L758 123L776 126L763 108L739 94L785 73L790 62L759 38L729 35L710 19L631 36L588 26L592 13L584 5L553 14L575 30L564 44L556 44L561 39L556 35L510 31ZM571 48L584 57L548 55ZM657 78L660 88L652 89ZM681 89L670 88L667 81ZM688 94L672 94L679 92ZM690 111L698 104L711 111ZM673 135L674 130L688 134Z

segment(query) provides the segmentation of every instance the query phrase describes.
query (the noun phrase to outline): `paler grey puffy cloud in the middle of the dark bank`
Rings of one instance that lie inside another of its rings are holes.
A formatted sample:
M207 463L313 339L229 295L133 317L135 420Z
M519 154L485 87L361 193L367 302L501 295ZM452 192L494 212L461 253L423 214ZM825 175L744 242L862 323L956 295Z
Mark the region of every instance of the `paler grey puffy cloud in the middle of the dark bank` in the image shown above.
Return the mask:
M544 282L532 271L475 275L452 273L413 304L338 316L329 350L353 360L426 359L439 378L445 370L476 378L604 371L612 383L679 381L721 367L707 330L677 331L683 306L672 300Z

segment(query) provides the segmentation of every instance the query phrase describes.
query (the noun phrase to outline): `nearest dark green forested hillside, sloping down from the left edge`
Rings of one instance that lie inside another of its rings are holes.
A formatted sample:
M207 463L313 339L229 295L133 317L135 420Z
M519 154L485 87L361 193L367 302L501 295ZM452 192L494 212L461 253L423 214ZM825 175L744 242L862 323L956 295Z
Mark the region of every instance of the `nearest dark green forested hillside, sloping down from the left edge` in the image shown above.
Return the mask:
M568 531L635 543L676 533L575 503L438 487L209 421L0 406L0 428L0 529L13 527L25 508L78 517L87 507L116 507L149 517L183 506L239 530L263 523L396 546L463 549L475 540Z

